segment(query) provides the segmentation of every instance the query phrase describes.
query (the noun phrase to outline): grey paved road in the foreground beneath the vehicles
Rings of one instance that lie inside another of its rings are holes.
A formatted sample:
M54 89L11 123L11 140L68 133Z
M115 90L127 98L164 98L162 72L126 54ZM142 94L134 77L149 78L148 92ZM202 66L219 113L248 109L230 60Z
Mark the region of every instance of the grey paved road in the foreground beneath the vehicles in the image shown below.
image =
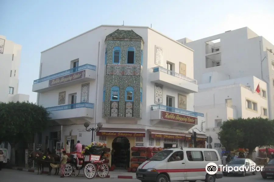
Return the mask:
M8 181L20 181L20 182L31 182L31 181L39 181L39 182L79 182L79 181L90 181L85 177L66 177L60 178L59 176L47 176L47 174L37 175L36 173L28 173L24 171L18 170L10 170L10 169L3 169L0 171L0 179L1 182L8 182ZM101 179L101 178L93 178L93 181L99 182L140 182L140 180L136 179ZM257 174L255 176L248 174L246 177L223 177L222 179L216 180L216 182L270 182L272 179L263 180L261 174ZM198 181L197 181L198 182ZM199 181L201 182L201 181Z

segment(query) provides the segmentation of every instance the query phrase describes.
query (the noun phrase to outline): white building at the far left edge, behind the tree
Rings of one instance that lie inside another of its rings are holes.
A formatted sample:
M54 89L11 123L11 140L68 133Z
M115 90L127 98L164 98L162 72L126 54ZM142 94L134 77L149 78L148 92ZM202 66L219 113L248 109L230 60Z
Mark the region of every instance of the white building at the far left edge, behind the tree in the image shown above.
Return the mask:
M29 101L30 96L19 94L19 66L22 46L0 35L0 102Z

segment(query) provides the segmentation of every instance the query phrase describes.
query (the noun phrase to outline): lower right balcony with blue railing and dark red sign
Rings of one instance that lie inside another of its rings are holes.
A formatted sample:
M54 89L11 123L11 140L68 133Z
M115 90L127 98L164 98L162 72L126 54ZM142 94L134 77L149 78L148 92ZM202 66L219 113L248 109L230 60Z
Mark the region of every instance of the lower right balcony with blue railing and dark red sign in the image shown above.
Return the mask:
M150 106L150 124L156 127L190 130L200 123L204 114L161 104Z

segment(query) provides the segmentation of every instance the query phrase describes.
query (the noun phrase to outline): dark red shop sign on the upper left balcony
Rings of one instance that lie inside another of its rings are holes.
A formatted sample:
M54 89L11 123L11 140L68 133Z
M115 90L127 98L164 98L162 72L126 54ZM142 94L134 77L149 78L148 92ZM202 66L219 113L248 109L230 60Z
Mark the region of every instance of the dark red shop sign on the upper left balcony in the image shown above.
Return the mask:
M82 70L79 72L71 73L69 75L51 79L48 82L48 86L59 85L62 83L67 83L67 82L71 82L71 81L82 79L82 78L86 78L86 70Z

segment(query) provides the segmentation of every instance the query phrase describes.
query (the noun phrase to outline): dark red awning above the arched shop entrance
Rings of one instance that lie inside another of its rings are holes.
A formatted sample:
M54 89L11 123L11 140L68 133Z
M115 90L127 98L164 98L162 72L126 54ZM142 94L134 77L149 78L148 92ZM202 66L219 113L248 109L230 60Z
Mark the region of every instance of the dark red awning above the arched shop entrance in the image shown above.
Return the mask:
M96 132L96 136L127 136L127 137L145 137L145 129L134 128L101 128Z

